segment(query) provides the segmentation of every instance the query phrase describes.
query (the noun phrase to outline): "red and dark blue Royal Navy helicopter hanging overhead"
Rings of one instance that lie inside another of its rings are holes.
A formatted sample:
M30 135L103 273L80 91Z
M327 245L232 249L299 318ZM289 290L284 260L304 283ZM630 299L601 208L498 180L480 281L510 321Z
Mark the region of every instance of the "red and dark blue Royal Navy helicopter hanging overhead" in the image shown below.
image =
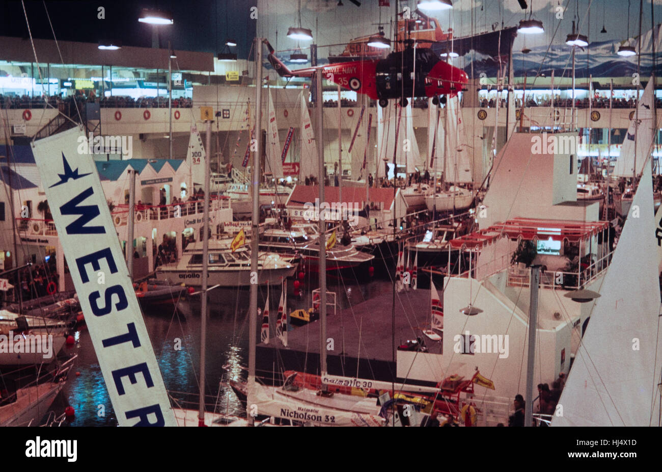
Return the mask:
M338 62L328 66L289 70L274 54L269 41L269 62L281 77L312 77L322 69L327 80L341 87L364 93L386 107L389 99L399 99L407 106L407 97L432 97L432 103L446 103L446 96L454 97L469 82L467 74L440 60L430 48L414 48L408 40L404 50L391 52L379 60Z

